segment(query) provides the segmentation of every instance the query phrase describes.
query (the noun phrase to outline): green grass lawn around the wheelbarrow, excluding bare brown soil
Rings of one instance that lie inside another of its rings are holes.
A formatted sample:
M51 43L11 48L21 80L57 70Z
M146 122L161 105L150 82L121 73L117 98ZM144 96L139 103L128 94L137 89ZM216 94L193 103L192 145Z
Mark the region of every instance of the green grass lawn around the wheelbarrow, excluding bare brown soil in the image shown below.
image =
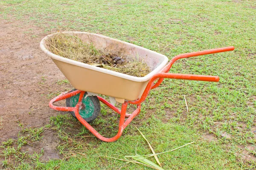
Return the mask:
M117 142L100 142L81 125L79 133L70 133L69 128L77 129L71 116L52 117L50 128L63 141L57 149L66 159L44 164L34 161L37 163L32 165L24 161L15 164L17 169L149 169L106 157L123 159L134 155L137 142L138 154L150 153L135 125L156 153L195 141L160 155L164 169L255 169L256 150L248 149L256 147L255 8L256 1L250 0L0 1L0 16L5 20L15 18L36 24L45 34L53 28L103 34L157 51L169 59L186 52L236 47L233 52L175 63L173 73L218 75L220 82L164 80L151 91L142 112ZM42 78L42 83L47 81ZM111 113L103 107L102 115L92 123L106 136L114 136L118 127L119 117ZM224 133L228 135L222 137ZM204 140L204 134L214 140ZM6 154L13 154L12 147L8 147ZM251 159L244 159L243 151L250 153Z

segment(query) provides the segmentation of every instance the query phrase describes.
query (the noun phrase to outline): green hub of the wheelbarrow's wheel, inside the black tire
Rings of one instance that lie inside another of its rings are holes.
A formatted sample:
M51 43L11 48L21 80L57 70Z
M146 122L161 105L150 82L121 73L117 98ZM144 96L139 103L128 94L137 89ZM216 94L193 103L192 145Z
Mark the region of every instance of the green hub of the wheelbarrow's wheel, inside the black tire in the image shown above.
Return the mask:
M79 101L79 96L80 94L77 94L76 96L70 97L70 106L75 107L76 104ZM85 96L85 95L84 95ZM89 118L92 116L94 113L94 105L93 102L89 97L86 97L85 99L82 99L82 105L81 105L81 110L79 111L80 116L85 119Z

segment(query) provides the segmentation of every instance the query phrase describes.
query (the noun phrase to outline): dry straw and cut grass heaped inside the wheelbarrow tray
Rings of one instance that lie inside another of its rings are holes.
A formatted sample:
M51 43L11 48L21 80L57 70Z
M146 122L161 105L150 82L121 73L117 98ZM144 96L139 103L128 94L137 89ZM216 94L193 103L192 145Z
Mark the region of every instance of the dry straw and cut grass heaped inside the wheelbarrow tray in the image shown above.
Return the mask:
M125 57L121 57L122 63L113 63L112 54L104 54L98 51L93 44L83 42L79 37L67 35L63 33L55 34L49 40L49 51L61 57L73 59L108 70L117 71L119 73L128 74L135 77L144 77L150 73L150 68L145 62L140 62L139 59L127 61ZM115 54L113 54L115 55ZM105 62L102 63L102 58Z

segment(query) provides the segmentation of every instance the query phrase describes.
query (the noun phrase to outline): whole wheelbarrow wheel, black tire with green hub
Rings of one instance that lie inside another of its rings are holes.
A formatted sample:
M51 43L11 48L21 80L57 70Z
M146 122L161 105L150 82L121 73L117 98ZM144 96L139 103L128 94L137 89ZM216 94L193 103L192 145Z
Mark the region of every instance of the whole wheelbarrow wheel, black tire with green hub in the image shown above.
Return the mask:
M72 91L76 91L76 89L73 89ZM72 92L70 91L70 92ZM86 96L87 92L84 93L84 96ZM66 105L67 107L75 107L78 103L80 93L76 96L72 96L70 98L66 99ZM76 118L75 112L70 111L71 115ZM100 102L97 96L87 96L85 99L82 99L82 108L79 111L79 114L86 122L93 122L94 119L97 118L97 116L100 113ZM77 118L76 118L77 119Z

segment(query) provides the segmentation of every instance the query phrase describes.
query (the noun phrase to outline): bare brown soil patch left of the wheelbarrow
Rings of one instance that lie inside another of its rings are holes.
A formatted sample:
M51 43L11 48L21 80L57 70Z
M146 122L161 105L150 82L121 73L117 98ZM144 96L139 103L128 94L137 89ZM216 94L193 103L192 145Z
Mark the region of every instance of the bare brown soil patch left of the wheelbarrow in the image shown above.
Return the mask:
M56 95L57 89L65 90L70 85L57 83L64 76L39 48L40 40L47 35L40 28L2 20L0 30L0 142L3 142L17 139L21 127L48 124L50 116L57 114L48 107L49 99ZM57 140L53 131L46 130L42 142L24 149L34 152L44 148L43 160L59 159L55 150Z

